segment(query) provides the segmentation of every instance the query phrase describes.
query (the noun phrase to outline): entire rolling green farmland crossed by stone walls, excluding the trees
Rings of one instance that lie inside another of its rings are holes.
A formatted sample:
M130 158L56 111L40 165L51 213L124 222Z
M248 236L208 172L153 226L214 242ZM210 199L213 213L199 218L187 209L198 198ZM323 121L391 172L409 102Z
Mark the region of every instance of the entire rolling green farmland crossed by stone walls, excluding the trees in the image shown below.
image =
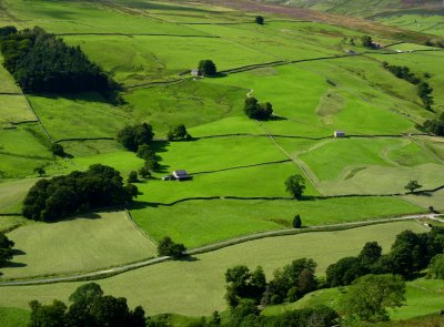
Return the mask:
M367 9L355 2L0 0L0 27L39 25L80 47L121 84L123 100L113 104L97 92L24 94L0 67L0 232L20 252L0 268L0 316L21 321L29 300L65 300L81 284L2 282L144 260L155 256L167 235L193 249L289 228L295 214L303 226L327 227L427 213L431 206L443 211L444 143L418 127L444 112L444 51L424 45L444 37L441 1L375 1ZM256 14L265 24L254 23ZM382 48L362 47L365 34ZM218 78L190 75L203 59L215 62ZM384 62L408 67L431 85L432 111L415 85L394 76ZM243 105L250 96L271 102L274 119L248 119ZM133 204L51 224L22 217L23 198L41 180L36 167L44 167L47 178L97 163L124 178L138 171L143 160L115 136L141 122L153 126L152 146L161 160L150 178L134 183ZM168 141L178 124L191 140ZM334 131L346 137L333 137ZM69 156L53 155L52 144ZM192 181L162 181L180 168ZM302 201L285 192L284 182L294 174L305 180ZM421 183L421 193L404 188L411 180ZM406 228L426 231L416 222L397 222L264 238L98 283L150 314L209 315L225 309L228 267L262 265L271 275L307 256L322 276L365 242L379 241L387 251ZM415 287L442 287L427 283L410 284L408 305L392 313L393 319L421 314L425 295ZM441 293L431 293L432 304L422 314L434 313L442 302Z

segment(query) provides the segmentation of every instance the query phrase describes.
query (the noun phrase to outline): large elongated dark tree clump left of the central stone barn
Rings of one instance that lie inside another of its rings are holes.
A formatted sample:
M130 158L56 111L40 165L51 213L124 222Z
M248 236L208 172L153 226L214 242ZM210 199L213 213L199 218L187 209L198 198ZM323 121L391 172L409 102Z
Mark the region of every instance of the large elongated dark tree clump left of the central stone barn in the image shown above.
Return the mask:
M53 222L95 207L130 203L137 194L138 188L124 185L113 167L94 164L85 172L37 182L24 198L22 213L30 219Z

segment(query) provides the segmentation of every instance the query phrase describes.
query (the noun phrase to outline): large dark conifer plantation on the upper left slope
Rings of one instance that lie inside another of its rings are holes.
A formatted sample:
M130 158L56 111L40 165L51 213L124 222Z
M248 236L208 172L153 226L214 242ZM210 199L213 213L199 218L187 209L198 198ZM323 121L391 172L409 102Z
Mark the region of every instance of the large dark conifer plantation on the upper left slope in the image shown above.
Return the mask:
M10 32L3 29L1 38L3 65L24 92L108 91L115 84L79 47L41 28Z

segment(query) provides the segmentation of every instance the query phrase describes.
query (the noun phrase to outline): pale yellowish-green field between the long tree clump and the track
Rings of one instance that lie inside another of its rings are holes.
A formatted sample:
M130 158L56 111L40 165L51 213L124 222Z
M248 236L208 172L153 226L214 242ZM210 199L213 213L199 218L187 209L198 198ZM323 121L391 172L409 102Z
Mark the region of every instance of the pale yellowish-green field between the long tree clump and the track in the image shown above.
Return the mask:
M33 223L8 233L22 252L3 278L93 270L143 259L155 254L123 212L107 212L59 223Z

